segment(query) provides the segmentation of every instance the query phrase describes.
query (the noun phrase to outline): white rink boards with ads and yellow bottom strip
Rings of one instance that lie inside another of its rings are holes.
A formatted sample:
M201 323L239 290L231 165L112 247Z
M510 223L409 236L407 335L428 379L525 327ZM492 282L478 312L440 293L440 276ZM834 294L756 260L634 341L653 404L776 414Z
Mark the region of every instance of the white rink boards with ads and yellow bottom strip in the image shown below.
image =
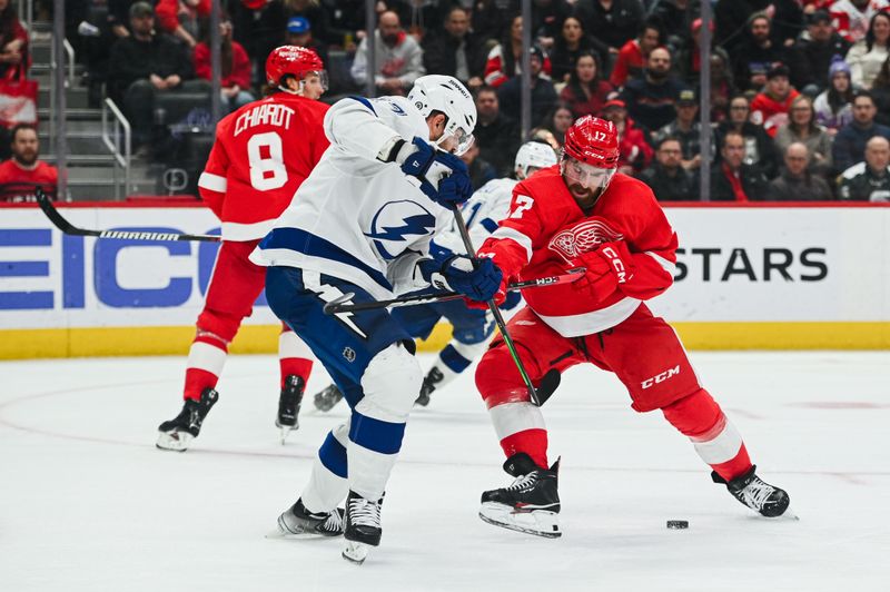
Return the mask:
M76 226L210 234L200 204L60 205ZM890 207L676 204L674 286L650 303L689 348L890 349ZM0 207L0 358L185 354L217 246L63 236ZM438 347L443 326L423 344ZM233 352L277 347L263 297Z

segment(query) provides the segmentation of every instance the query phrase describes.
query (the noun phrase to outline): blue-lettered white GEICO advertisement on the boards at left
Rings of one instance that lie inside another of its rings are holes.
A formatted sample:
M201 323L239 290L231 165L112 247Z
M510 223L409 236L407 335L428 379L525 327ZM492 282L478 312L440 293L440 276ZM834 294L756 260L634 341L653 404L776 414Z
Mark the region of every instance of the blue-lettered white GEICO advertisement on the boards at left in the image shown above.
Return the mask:
M59 208L82 228L218 234L205 208ZM218 243L62 235L39 209L0 220L0 328L191 325ZM273 324L260 295L249 324Z

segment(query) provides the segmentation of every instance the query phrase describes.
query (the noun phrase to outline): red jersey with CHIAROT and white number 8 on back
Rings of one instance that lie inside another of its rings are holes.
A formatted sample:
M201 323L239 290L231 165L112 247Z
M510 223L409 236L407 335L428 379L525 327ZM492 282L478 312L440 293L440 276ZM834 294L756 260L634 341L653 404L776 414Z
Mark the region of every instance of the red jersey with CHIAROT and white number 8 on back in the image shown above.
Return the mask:
M198 189L222 221L225 240L268 234L330 144L324 130L328 108L276 92L219 122Z

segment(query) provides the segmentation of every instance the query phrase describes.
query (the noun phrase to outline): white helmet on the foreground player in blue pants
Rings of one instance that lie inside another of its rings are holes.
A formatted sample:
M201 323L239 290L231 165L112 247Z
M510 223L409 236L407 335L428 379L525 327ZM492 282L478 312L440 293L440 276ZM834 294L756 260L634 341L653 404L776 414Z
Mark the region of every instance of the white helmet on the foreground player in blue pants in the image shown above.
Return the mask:
M473 129L476 127L476 103L469 91L453 76L422 76L414 81L408 92L408 100L414 103L424 118L433 111L442 111L448 121L445 134L435 141L441 145L453 137L457 142L455 154L461 156L473 146Z

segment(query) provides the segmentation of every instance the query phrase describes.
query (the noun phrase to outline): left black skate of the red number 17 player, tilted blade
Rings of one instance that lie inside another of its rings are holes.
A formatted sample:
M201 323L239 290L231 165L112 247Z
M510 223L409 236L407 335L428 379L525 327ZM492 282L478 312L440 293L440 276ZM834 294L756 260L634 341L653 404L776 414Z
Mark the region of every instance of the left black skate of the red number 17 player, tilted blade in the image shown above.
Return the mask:
M560 461L541 468L521 452L504 463L504 471L516 477L507 487L482 494L479 517L488 524L555 539L560 531L560 493L556 477Z

